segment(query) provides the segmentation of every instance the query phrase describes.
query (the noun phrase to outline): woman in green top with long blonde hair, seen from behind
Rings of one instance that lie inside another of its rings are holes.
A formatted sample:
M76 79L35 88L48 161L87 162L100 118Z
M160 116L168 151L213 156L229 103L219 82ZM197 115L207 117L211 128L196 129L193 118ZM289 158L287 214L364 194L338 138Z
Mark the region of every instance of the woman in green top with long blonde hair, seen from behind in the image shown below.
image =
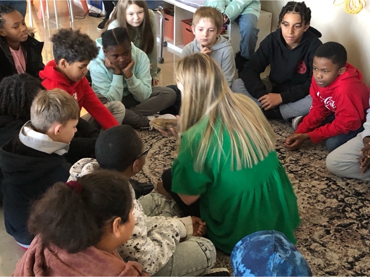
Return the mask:
M181 140L171 172L162 176L164 188L185 214L200 215L208 238L227 253L260 230L283 232L296 243L296 195L259 107L231 92L207 55L183 58L175 76L182 92Z

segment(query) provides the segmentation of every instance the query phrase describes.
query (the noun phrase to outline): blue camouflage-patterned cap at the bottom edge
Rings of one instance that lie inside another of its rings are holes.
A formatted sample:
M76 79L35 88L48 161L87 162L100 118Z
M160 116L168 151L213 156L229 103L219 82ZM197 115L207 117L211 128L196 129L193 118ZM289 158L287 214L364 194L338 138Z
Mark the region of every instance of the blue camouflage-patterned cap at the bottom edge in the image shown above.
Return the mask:
M234 276L312 276L302 254L278 231L259 231L240 240L231 252Z

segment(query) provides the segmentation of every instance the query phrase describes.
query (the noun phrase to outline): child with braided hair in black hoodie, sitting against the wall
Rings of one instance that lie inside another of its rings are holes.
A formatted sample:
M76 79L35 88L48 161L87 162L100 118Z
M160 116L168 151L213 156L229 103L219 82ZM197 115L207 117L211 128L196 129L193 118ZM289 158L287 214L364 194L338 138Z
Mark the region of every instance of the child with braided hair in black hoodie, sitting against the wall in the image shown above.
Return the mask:
M251 97L268 119L290 119L310 110L313 54L322 44L310 21L304 2L288 2L279 15L280 28L261 41L232 84L233 92ZM261 79L268 65L268 78Z

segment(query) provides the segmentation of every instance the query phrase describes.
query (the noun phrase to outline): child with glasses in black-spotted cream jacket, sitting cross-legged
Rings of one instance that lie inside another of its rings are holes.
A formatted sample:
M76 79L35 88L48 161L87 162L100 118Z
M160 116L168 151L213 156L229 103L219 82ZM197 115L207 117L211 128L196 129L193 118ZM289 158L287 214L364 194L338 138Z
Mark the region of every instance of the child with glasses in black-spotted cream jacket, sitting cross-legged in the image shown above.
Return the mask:
M69 180L102 169L114 170L126 179L139 173L148 148L129 125L112 127L97 139L94 159L82 159L71 168ZM204 222L197 217L178 218L179 212L158 193L135 199L135 228L130 240L118 248L124 260L137 261L143 271L155 276L197 276L207 273L216 262L213 244L201 236ZM150 216L147 216L150 215ZM181 239L184 242L180 243ZM183 259L182 257L186 257Z

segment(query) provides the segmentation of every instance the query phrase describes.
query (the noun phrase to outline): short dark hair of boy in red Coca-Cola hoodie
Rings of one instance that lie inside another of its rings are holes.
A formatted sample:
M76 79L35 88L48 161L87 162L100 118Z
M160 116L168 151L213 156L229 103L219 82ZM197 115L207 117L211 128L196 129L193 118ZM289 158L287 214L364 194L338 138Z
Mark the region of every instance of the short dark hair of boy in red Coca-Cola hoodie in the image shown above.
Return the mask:
M347 51L340 43L329 41L316 49L314 57L329 59L340 68L346 65Z

